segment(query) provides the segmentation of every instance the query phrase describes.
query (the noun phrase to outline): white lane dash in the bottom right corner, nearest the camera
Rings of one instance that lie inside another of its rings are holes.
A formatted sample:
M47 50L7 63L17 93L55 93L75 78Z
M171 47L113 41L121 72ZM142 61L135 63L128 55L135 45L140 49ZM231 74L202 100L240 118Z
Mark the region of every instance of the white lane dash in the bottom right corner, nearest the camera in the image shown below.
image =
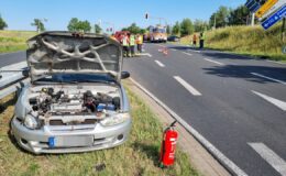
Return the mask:
M286 162L275 152L263 143L249 143L249 145L256 151L273 168L280 173L282 176L286 176Z

